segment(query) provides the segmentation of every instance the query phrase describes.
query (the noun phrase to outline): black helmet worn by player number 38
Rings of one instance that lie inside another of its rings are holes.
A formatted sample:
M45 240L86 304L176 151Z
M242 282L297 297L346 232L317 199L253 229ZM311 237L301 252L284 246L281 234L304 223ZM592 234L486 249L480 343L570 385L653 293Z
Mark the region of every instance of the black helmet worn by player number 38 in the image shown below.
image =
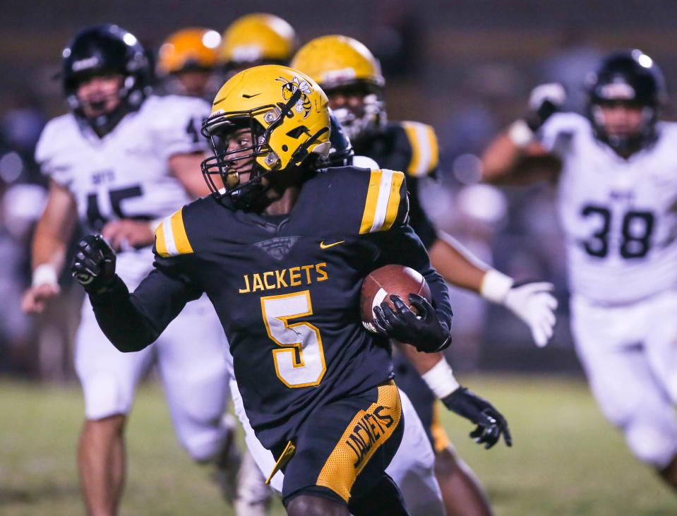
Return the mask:
M660 107L666 102L665 80L660 68L641 50L609 54L585 81L588 95L588 116L595 136L616 151L635 152L656 138L656 122ZM599 104L627 102L642 107L645 122L639 133L609 136L604 128Z

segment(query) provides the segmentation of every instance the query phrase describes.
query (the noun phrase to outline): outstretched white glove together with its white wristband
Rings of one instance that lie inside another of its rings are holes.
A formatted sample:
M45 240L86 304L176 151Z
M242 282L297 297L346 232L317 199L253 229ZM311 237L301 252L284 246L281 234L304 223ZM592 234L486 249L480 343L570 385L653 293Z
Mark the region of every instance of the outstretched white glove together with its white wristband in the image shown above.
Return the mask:
M513 278L495 269L484 275L480 294L492 303L502 304L523 320L538 347L544 347L553 336L557 299L550 293L554 285L549 282L533 282L515 287Z

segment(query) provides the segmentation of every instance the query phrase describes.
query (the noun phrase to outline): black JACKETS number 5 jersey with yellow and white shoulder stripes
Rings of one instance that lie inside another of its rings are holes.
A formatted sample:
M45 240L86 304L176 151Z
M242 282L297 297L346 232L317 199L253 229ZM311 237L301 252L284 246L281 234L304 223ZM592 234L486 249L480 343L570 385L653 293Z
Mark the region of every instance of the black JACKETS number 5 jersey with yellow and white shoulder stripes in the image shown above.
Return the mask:
M360 287L371 270L388 263L419 270L450 327L445 285L407 212L404 174L385 169L320 171L284 216L236 210L229 198L208 196L157 228L157 270L133 302L164 328L183 304L207 293L229 340L247 416L272 448L294 438L320 404L393 376L387 342L361 324ZM158 295L172 299L154 300Z

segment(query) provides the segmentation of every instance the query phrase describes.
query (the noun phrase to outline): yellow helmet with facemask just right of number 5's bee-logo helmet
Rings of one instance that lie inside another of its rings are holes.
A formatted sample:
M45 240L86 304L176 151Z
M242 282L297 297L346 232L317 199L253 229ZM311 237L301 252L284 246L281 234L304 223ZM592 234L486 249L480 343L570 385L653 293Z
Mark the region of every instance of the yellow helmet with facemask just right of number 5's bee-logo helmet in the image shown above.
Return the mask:
M304 71L335 100L339 96L361 97L358 106L335 103L333 113L351 140L360 140L385 125L381 65L369 49L352 37L331 35L306 43L291 66Z

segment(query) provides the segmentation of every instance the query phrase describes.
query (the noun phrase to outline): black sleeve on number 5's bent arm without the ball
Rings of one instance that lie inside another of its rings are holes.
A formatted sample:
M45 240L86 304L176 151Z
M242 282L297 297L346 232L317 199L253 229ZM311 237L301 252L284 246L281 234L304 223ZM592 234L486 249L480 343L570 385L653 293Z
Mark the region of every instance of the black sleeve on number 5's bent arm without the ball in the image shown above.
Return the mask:
M101 330L121 352L136 352L149 346L179 315L188 301L202 291L188 277L176 272L167 258L158 257L155 270L130 294L116 276L104 294L90 294Z

